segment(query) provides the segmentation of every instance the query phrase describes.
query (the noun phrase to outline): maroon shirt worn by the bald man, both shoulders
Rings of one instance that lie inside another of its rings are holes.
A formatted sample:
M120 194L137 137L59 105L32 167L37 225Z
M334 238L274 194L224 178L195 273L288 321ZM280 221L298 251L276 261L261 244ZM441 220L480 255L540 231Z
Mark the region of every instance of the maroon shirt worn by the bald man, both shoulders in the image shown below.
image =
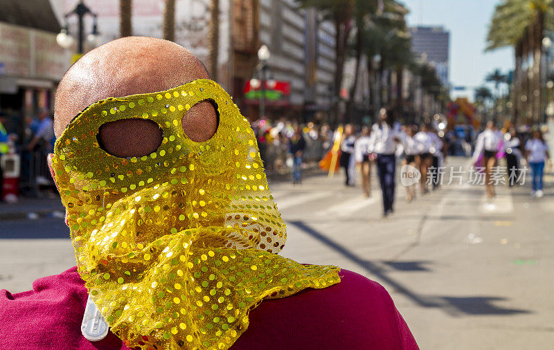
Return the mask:
M418 349L381 285L339 275L334 286L262 302L231 349ZM0 349L128 349L111 332L100 342L82 336L86 303L76 268L37 279L33 291L0 291Z

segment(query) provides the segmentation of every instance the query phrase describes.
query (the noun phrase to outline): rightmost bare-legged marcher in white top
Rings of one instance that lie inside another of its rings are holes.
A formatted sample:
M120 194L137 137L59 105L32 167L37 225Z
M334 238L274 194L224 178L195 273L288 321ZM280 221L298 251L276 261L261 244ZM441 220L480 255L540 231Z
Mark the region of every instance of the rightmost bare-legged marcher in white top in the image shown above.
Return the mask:
M494 183L491 181L491 176L492 168L497 164L497 153L501 140L501 133L491 120L487 122L485 130L477 136L473 163L478 163L482 154L483 166L485 167L485 189L488 198L494 196Z

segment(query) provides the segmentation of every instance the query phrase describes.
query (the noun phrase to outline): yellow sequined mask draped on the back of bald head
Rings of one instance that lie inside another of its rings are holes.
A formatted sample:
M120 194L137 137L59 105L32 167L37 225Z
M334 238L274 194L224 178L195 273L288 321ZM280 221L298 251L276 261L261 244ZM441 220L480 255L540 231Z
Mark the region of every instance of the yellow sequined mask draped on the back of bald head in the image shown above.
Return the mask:
M194 142L181 118L204 100L220 123ZM125 118L157 122L157 151L118 158L98 145L99 128ZM340 281L334 266L274 254L286 228L256 138L211 80L92 104L57 140L53 168L79 273L129 347L228 349L263 299Z

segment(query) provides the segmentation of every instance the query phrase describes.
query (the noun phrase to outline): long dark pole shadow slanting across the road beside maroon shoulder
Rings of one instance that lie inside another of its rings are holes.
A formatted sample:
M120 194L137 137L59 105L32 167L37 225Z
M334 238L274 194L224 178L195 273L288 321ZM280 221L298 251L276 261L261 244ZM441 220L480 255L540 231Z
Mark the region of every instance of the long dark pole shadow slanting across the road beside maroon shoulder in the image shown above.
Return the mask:
M377 277L388 286L391 286L398 293L402 293L410 300L423 307L434 307L441 308L447 313L451 314L467 314L467 315L514 315L518 313L530 313L531 311L519 310L515 308L502 308L492 304L494 301L505 301L505 298L501 297L449 297L449 296L427 296L427 295L418 295L414 291L411 291L410 288L404 286L400 282L397 282L395 279L388 277L386 275L386 268L379 266L377 262L369 261L362 259L354 252L348 248L342 246L341 244L333 241L332 239L325 237L311 228L309 225L306 225L303 221L288 221L291 225L296 226L296 228L302 230L303 232L310 234L311 237L321 241L329 248L339 252L341 255L354 262L361 268L363 268L367 273ZM422 263L428 263L428 261L411 261L404 263L389 261L385 264L395 268L396 270L405 270L405 271L421 271L427 270L425 266L422 266ZM403 269L404 268L404 269Z

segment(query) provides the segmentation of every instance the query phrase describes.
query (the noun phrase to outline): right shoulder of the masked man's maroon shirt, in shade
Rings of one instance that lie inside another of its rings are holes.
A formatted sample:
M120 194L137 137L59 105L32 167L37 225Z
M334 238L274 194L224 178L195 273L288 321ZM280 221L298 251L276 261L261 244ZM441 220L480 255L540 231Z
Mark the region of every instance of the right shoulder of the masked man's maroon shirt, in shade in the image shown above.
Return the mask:
M383 286L348 270L339 276L328 288L262 302L233 349L418 349Z

